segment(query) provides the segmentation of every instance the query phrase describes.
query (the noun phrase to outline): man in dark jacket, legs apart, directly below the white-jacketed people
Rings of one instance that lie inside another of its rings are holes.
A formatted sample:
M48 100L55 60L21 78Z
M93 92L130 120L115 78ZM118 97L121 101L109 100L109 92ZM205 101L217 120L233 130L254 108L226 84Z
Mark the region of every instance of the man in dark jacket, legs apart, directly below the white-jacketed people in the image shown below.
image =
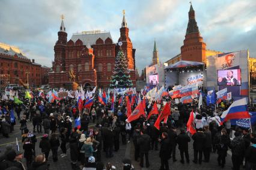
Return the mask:
M203 129L199 128L197 133L195 133L192 136L192 139L194 139L193 148L194 148L194 163L202 163L202 157L203 157L203 148L204 144L206 142L206 135L204 135ZM199 153L199 158L198 158Z

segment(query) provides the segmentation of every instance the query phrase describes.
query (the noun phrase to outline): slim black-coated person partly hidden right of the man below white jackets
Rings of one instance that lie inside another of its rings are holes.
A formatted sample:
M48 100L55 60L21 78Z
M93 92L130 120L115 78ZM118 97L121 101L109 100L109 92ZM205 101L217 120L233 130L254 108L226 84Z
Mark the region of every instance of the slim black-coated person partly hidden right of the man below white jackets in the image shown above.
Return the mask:
M212 133L209 130L209 126L204 126L204 134L206 135L206 143L203 148L204 162L209 162L212 151Z

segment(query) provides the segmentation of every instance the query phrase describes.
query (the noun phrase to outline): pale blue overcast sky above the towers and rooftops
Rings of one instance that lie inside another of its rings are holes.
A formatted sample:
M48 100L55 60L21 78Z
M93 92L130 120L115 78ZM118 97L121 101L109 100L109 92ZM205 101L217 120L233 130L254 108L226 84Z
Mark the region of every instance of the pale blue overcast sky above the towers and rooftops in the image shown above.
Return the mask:
M249 49L256 56L255 0L194 0L192 5L207 49ZM126 10L136 67L141 70L151 62L154 38L161 62L180 53L189 7L185 0L1 0L0 42L18 46L28 58L51 67L61 14L68 40L75 32L100 29L110 31L116 43Z

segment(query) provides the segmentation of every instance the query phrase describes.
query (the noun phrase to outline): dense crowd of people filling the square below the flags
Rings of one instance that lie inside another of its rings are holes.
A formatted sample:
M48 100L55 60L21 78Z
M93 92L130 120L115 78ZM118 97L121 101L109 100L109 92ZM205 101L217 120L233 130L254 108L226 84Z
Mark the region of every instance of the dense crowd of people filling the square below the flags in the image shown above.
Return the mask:
M24 99L23 104L19 105L11 100L1 100L2 135L8 138L16 121L19 121L23 153L10 146L6 147L1 154L0 169L13 166L29 170L49 169L47 160L50 152L53 162L70 154L72 169L115 169L111 163L102 163L102 154L111 158L120 150L120 144L126 145L130 141L135 148L133 159L141 167L150 167L150 150L159 150L160 170L169 169L169 159L177 161L176 148L180 151L180 163L185 163L184 156L186 163L190 163L189 142L193 141L193 163L201 165L202 162L210 162L211 154L217 153L218 165L224 168L227 151L230 149L233 169L240 169L242 166L246 169L256 168L256 134L249 129L231 126L230 121L220 124L219 116L229 106L225 102L216 110L206 105L198 109L197 103L175 104L170 97L163 97L162 101L157 102L160 105L159 111L163 108L163 101L166 101L171 102L172 113L166 123L160 124L158 130L154 126L158 115L151 115L148 119L141 115L129 123L124 100L122 103L117 100L113 112L111 102L102 105L97 97L94 98L91 108L82 110L79 110L76 99L69 97L49 103L35 93L33 100ZM146 114L153 105L154 102L146 101ZM136 103L132 108L135 106ZM11 121L11 110L15 111L17 120L15 118ZM189 135L185 126L192 111L195 114L194 126L197 132ZM75 126L78 118L81 124ZM33 129L28 128L28 123L32 123ZM37 138L36 133L42 137ZM35 153L37 142L40 154ZM68 145L70 153L67 153ZM60 156L59 148L62 153ZM22 155L26 159L25 166ZM130 159L123 159L123 169L134 169Z

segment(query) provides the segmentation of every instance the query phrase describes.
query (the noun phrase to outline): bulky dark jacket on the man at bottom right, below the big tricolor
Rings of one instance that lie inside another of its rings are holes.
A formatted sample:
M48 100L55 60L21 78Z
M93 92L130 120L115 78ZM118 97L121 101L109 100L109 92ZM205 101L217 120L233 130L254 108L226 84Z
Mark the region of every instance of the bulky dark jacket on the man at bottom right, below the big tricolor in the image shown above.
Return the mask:
M230 148L232 155L242 156L245 153L245 142L243 142L242 136L237 136L230 142Z

